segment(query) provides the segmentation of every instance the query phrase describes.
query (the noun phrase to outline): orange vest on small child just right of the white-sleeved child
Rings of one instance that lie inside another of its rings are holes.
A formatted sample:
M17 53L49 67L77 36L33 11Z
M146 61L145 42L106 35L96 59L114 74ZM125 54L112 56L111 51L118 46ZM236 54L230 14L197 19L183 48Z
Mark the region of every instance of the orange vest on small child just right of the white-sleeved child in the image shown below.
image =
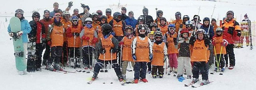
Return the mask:
M162 42L159 45L154 43L154 45L153 45L153 55L155 57L153 57L151 65L164 66L164 45L165 45L164 42Z

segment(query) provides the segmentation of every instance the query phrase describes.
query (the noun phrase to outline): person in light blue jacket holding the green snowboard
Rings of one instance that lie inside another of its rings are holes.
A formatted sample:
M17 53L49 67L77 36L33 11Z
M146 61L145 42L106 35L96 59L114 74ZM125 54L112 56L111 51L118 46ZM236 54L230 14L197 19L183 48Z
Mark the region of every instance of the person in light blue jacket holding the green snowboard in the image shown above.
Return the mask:
M30 24L28 23L28 20L25 20L24 18L24 11L22 9L17 9L15 11L15 17L20 19L20 24L21 24L21 31L16 33L17 36L22 36L22 42L23 42L23 48L24 48L24 55L27 53L27 48L28 48L28 33L31 31ZM10 37L14 37L13 32L11 32L11 27L10 24L8 25L8 33ZM26 60L24 60L24 63L26 63ZM18 71L18 74L27 74L26 70L23 71Z

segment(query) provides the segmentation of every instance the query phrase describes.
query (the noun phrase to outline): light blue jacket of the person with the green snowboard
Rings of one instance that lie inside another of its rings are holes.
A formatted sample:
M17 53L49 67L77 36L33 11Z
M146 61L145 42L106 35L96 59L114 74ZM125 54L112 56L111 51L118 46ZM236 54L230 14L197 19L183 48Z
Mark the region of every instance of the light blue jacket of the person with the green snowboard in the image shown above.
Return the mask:
M23 41L23 43L27 43L28 42L28 33L30 33L30 31L31 31L30 24L28 23L28 20L25 20L25 19L21 20L20 23L21 23L21 31L23 31L22 41ZM8 25L8 32L9 33L11 32L10 24Z

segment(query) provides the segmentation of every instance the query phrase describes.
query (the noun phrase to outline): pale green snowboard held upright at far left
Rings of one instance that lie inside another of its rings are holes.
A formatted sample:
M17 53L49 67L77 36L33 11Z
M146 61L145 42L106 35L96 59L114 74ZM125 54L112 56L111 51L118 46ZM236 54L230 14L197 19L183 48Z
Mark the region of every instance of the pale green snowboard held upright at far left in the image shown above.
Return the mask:
M22 36L17 36L17 33L21 31L20 19L12 17L10 20L11 32L14 34L12 37L14 46L14 56L16 68L19 71L24 71L27 68L26 65L26 53L24 53Z

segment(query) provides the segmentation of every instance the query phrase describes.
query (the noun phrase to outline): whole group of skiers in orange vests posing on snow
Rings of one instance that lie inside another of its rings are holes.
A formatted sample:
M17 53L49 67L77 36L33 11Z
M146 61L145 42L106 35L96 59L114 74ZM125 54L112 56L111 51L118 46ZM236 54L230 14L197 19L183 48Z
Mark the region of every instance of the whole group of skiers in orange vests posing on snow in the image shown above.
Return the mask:
M222 72L224 67L233 69L235 66L233 48L240 40L241 29L233 11L228 11L222 26L217 26L214 18L206 17L200 23L198 15L190 21L187 15L181 18L180 12L175 13L176 20L167 22L161 10L153 20L148 9L143 8L143 15L136 20L132 11L126 16L125 7L112 17L110 8L104 16L101 10L90 14L89 6L81 4L83 13L78 14L76 8L71 15L68 11L72 2L64 11L58 9L58 5L53 4L52 12L45 10L42 20L40 14L34 12L29 23L24 19L23 10L16 10L15 16L20 18L22 29L14 34L9 26L9 35L22 35L24 50L28 43L36 42L37 55L35 60L27 62L27 70L19 74L41 70L42 65L46 65L47 70L63 70L61 64L90 72L94 65L92 59L96 59L92 80L97 78L100 69L105 72L106 65L110 64L122 82L126 80L128 64L132 63L134 83L148 82L146 72L153 78L157 75L163 78L164 62L168 59L169 72L177 78L186 72L187 78L193 76L195 83L202 74L202 84L207 84L209 64L215 62L215 70ZM43 49L46 50L42 60Z

